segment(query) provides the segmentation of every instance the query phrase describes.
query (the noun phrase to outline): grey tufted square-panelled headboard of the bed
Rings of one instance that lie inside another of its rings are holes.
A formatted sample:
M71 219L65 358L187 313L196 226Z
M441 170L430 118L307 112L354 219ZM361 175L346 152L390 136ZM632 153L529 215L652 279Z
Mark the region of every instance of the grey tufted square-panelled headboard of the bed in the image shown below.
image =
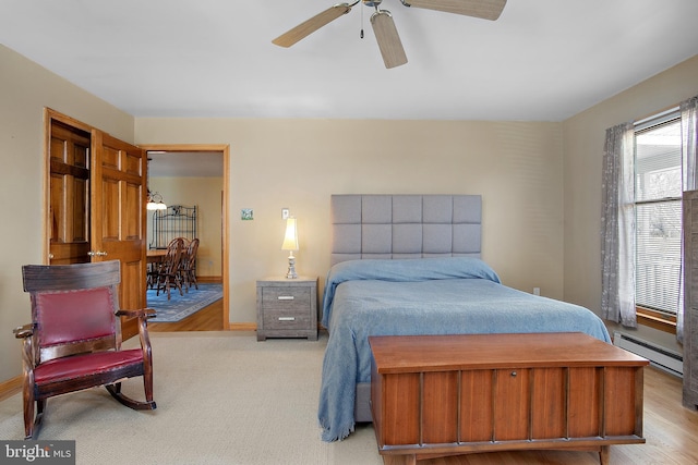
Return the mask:
M333 195L332 265L366 258L480 258L479 195Z

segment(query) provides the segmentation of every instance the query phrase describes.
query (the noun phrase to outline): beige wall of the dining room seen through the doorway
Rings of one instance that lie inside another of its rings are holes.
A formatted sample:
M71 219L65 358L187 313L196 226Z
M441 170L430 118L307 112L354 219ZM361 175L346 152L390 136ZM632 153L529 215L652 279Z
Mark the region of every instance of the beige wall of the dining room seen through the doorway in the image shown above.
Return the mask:
M151 191L160 193L167 205L197 206L196 233L200 246L196 274L202 278L220 278L222 178L151 178L149 186ZM152 218L153 216L148 212L148 244L153 237Z

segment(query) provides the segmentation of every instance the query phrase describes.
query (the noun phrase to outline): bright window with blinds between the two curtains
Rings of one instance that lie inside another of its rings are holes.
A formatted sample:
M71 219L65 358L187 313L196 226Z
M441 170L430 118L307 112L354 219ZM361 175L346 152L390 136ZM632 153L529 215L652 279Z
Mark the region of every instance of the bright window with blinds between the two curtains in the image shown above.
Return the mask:
M678 110L636 124L635 302L638 310L669 320L678 310L681 292L681 150Z

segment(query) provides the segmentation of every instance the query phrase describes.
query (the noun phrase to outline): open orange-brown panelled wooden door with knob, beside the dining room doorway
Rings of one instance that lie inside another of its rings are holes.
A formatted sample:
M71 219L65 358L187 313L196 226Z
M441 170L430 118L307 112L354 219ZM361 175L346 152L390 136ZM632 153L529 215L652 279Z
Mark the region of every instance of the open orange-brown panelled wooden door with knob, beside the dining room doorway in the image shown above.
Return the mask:
M93 261L121 261L121 308L146 306L145 150L98 130L92 132L91 246ZM137 332L135 320L122 320L123 338Z

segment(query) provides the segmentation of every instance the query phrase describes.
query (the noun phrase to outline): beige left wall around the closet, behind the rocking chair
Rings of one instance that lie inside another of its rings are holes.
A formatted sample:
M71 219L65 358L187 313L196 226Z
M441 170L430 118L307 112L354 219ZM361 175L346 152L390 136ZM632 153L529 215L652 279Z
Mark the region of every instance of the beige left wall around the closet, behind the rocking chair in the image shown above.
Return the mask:
M12 328L29 322L21 267L44 244L44 107L133 142L133 118L0 45L0 382L21 372Z

